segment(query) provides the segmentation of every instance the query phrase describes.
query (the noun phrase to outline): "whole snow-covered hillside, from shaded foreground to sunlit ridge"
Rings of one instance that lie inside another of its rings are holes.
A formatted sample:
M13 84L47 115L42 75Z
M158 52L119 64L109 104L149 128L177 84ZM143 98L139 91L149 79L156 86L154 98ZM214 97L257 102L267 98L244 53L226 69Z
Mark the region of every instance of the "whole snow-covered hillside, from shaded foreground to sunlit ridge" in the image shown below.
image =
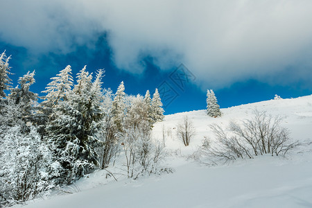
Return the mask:
M312 95L229 107L220 118L205 110L172 114L155 124L153 136L165 141L170 153L166 162L174 173L139 180L116 174L115 182L106 179L106 171L97 171L76 182L76 193L30 201L25 207L312 207L312 146L286 158L264 155L219 166L189 159L203 139L214 138L209 125L226 128L229 121L250 119L255 109L284 116L281 125L292 139L312 141ZM177 123L186 115L196 128L187 147L176 135Z

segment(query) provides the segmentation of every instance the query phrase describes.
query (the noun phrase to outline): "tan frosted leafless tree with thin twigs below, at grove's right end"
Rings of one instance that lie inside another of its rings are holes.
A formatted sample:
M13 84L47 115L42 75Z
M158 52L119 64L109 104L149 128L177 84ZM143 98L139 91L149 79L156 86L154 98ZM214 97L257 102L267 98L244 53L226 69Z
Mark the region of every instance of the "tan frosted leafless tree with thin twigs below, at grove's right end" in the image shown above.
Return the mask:
M125 153L128 177L136 179L140 175L170 172L170 168L159 166L164 146L155 144L151 138L151 123L148 108L150 96L128 96L130 105L123 122L121 144Z

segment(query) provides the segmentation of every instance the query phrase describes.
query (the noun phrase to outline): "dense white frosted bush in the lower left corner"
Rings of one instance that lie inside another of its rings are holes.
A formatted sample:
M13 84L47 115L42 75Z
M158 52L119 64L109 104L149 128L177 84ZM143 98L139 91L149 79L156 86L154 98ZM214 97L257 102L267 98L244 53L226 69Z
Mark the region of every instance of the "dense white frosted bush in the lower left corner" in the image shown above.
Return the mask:
M1 139L0 207L24 202L55 187L62 168L34 127L15 125Z

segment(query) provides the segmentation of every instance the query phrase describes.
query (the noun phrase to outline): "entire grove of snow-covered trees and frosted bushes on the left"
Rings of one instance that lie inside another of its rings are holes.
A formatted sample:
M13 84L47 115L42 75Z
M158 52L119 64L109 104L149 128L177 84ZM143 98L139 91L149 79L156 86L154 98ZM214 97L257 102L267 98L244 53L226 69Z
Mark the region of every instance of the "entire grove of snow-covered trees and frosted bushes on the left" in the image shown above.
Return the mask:
M102 88L103 70L94 78L84 67L75 83L67 66L51 78L38 103L38 94L30 91L35 71L12 88L9 60L1 53L0 207L71 184L93 168L107 168L122 150L129 177L134 176L130 169L135 177L162 169L157 169L162 147L150 136L153 123L164 118L157 89L153 98L148 91L145 97L128 96L121 82L113 94Z

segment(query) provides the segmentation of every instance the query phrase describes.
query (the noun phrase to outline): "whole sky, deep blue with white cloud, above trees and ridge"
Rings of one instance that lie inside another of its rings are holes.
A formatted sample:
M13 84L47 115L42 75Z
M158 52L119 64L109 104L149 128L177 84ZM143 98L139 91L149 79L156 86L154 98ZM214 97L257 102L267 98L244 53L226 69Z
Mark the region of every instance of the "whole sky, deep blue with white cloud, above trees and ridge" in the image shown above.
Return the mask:
M88 3L87 3L88 2ZM33 91L70 64L105 88L162 88L166 114L312 94L311 1L4 1L0 52ZM181 66L181 64L183 64ZM178 76L178 77L177 77ZM180 78L180 79L179 79ZM164 95L164 94L163 94Z

